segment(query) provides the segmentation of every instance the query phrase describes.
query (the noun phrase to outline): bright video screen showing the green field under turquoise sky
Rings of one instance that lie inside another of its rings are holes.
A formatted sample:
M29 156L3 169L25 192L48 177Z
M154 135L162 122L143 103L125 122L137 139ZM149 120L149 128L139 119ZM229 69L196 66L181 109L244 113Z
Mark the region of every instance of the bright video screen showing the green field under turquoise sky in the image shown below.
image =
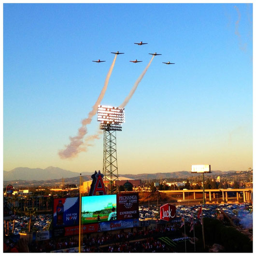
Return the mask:
M82 197L82 224L116 220L116 195Z

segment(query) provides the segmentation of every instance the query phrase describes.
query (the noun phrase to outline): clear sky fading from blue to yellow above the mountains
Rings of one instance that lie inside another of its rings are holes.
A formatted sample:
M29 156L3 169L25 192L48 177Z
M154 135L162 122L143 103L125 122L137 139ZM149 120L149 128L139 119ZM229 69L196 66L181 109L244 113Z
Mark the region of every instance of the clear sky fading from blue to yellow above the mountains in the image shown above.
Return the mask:
M238 3L4 4L3 169L102 170L103 135L77 157L58 151L91 111L115 51L125 54L103 105L120 105L148 53L162 54L125 108L120 174L252 167L252 18L252 4ZM94 116L87 135L98 126Z

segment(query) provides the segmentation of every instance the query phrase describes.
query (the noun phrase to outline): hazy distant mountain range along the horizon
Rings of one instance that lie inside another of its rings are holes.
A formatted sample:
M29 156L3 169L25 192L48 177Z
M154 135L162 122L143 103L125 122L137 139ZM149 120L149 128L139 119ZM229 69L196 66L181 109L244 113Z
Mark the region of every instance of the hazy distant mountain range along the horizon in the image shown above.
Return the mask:
M228 171L212 171L213 174L225 174ZM90 176L94 173L91 172L81 172L82 176L86 176L86 180L90 178ZM166 178L175 178L175 179L185 179L187 177L191 177L193 174L190 171L174 171L174 172L157 172L157 173L142 173L142 174L124 174L120 175L120 177L127 177L135 180L152 180L152 179L166 179ZM23 181L48 181L48 180L56 180L56 179L64 179L73 178L80 176L79 172L68 171L58 167L49 166L45 169L35 168L31 169L28 167L18 167L13 169L12 171L3 171L3 181L15 181L15 180L23 180ZM88 177L87 177L88 176Z

